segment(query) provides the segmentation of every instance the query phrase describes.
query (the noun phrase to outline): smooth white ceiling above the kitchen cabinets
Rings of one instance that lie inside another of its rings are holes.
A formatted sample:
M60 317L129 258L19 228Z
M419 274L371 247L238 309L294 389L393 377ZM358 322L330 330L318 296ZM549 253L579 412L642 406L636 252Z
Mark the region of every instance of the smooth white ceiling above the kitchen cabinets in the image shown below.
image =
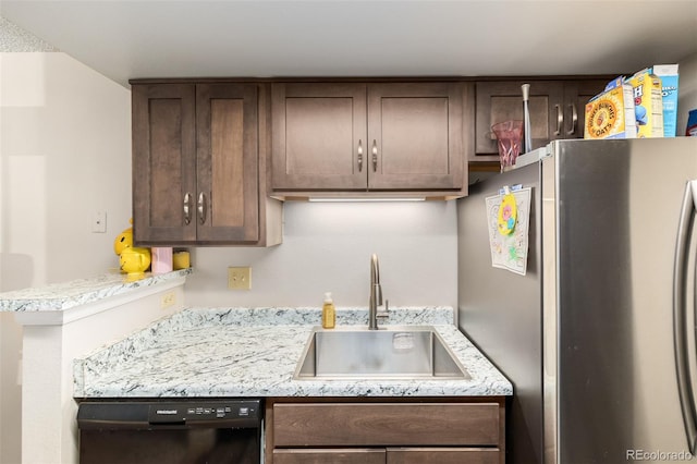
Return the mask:
M124 86L620 74L697 53L697 0L3 0L0 14Z

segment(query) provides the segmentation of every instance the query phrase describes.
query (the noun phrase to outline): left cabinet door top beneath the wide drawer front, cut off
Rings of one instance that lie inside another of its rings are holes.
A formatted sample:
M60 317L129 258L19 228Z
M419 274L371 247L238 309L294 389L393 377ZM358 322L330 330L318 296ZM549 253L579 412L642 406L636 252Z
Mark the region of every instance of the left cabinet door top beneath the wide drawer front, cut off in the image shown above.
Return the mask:
M384 449L273 450L273 464L384 464Z

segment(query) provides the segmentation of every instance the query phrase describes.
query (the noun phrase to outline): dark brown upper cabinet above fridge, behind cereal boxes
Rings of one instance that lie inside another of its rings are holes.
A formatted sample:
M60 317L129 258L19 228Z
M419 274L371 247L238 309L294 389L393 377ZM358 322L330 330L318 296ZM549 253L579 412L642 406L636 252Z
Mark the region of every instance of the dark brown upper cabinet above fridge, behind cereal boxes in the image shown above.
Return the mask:
M475 156L469 161L498 161L491 125L523 120L521 86L530 84L533 148L551 141L584 137L585 106L606 86L607 80L485 81L476 83Z

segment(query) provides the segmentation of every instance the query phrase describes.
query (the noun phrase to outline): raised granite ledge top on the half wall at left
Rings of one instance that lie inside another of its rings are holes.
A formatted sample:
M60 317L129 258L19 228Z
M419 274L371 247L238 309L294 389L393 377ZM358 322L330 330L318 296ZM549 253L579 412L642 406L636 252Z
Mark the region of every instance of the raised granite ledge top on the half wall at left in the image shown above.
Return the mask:
M162 274L146 272L139 280L129 281L125 274L109 272L90 279L54 283L41 288L0 293L2 312L56 312L95 303L110 296L121 295L135 289L152 286L171 279L188 276L192 269L182 269Z

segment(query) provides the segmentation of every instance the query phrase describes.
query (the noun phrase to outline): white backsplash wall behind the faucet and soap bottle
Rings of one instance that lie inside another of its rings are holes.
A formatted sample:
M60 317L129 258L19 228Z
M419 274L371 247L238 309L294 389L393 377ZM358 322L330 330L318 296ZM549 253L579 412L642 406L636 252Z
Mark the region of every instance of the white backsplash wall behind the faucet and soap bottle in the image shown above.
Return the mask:
M283 243L271 248L199 247L187 279L193 306L367 306L370 255L390 305L457 301L454 202L284 205ZM252 267L252 290L228 290L228 266Z

